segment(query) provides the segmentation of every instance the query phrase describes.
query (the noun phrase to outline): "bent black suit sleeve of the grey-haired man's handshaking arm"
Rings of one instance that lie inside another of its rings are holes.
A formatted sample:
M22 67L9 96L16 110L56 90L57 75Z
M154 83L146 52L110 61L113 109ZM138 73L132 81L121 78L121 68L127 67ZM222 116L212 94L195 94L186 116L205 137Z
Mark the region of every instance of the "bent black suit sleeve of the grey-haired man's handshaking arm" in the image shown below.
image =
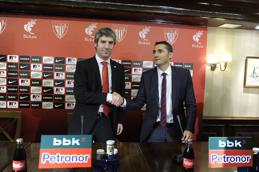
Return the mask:
M105 104L107 93L104 92L92 92L89 87L88 74L82 63L77 62L75 71L75 86L74 95L78 103L83 104Z

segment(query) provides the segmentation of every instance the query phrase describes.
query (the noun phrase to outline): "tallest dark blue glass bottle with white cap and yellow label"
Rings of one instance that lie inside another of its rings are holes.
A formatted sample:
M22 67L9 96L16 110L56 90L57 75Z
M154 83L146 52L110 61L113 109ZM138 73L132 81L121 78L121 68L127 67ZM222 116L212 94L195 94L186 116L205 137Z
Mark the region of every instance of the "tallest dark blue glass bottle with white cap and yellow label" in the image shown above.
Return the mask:
M114 155L114 140L107 140L107 151L102 157L102 172L117 172L118 171L118 156Z

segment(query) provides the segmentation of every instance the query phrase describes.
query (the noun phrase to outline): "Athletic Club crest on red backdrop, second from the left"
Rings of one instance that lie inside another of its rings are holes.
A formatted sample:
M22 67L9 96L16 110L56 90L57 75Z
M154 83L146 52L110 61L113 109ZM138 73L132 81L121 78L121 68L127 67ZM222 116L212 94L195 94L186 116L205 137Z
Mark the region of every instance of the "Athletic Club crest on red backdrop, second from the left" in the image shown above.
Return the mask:
M61 39L68 30L68 21L52 20L52 28L56 36Z

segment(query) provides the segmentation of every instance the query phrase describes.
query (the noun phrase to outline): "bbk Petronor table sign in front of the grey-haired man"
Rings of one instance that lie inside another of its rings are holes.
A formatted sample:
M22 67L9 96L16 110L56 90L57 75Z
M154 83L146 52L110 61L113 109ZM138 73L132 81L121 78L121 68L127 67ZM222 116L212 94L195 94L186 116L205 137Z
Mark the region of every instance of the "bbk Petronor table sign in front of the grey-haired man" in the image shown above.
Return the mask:
M39 169L91 167L92 135L42 135Z

